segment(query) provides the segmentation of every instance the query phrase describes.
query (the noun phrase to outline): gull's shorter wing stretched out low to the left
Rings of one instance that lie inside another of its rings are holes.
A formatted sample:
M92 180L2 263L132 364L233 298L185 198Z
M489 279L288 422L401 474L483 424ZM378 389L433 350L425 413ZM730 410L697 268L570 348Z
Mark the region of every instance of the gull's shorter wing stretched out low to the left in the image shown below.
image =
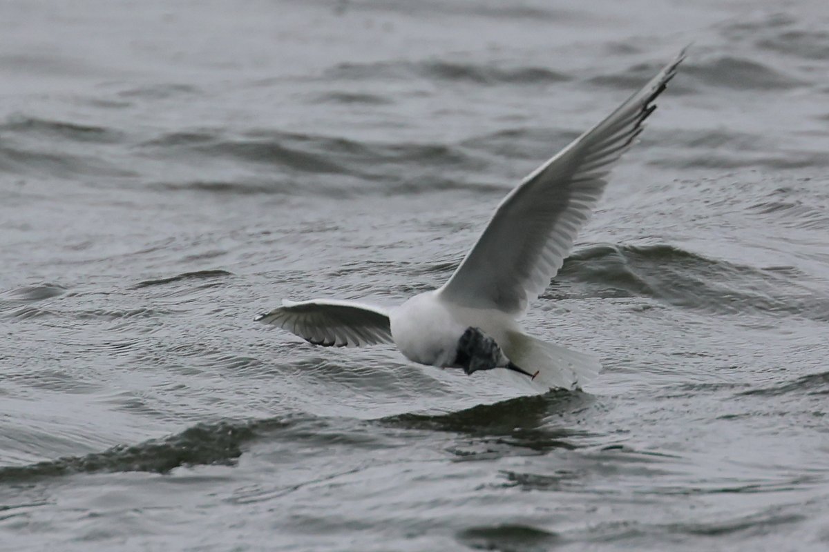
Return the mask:
M351 301L283 300L282 306L255 318L274 324L323 347L359 347L393 343L389 314L378 307Z

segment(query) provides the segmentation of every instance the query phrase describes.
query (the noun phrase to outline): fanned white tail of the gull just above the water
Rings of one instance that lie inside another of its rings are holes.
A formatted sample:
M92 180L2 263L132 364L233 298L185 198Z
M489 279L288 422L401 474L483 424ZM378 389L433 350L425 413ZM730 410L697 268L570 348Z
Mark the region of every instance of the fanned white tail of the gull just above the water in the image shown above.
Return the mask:
M509 334L503 350L516 366L530 373L537 371L532 383L547 389L580 389L602 369L597 358L520 332Z

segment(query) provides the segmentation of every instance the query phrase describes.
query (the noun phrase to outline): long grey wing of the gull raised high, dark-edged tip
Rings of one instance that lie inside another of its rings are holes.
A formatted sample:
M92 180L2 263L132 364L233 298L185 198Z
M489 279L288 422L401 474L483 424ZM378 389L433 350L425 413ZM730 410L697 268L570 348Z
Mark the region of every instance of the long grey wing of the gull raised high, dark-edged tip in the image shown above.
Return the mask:
M614 161L642 132L642 122L657 108L653 101L683 59L685 50L608 118L507 194L481 238L439 290L441 297L516 317L524 314L529 301L541 295L561 268L607 185Z

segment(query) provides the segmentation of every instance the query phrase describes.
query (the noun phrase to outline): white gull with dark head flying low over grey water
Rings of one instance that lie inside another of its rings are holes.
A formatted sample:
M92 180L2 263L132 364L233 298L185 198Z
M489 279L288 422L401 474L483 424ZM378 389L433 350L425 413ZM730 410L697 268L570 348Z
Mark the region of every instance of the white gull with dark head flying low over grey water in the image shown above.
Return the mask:
M423 365L468 375L503 369L539 391L581 389L599 374L599 360L527 334L520 321L570 254L610 170L637 142L686 50L521 180L444 286L390 309L351 300L283 300L255 320L315 345L390 343Z

